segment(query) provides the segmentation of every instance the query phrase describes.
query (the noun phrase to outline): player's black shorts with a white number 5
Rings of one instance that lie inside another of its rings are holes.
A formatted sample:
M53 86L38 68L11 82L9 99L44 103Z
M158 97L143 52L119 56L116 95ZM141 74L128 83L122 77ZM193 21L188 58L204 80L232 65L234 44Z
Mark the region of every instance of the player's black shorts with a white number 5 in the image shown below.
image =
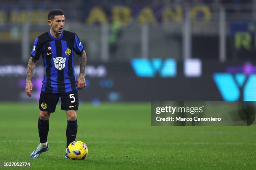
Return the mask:
M78 94L75 92L45 93L41 91L39 109L41 111L55 112L55 107L61 98L61 110L78 110Z

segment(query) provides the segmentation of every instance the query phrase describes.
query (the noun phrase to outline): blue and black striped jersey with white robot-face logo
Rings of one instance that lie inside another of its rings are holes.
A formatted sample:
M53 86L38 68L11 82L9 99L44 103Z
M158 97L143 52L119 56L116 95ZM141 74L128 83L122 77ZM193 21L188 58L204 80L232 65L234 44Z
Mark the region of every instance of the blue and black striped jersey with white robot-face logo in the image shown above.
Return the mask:
M31 56L38 60L42 54L45 68L43 92L65 93L77 90L74 52L80 55L83 50L74 32L63 30L61 36L55 38L48 31L36 38Z

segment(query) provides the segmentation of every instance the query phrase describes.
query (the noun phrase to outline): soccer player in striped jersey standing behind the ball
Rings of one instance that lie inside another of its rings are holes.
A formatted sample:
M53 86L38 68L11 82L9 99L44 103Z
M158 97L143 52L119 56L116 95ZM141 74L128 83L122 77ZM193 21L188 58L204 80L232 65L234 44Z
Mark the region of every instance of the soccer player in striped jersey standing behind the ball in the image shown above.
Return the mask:
M49 117L61 98L61 110L67 113L67 147L77 135L77 89L85 87L85 65L87 61L84 47L77 34L63 30L65 17L61 10L52 10L48 14L50 30L38 36L34 42L31 57L28 60L26 77L26 94L31 97L33 88L31 77L36 60L42 55L45 67L44 80L39 99L38 133L40 144L31 153L30 158L49 150L47 135ZM74 72L74 52L79 55L80 73ZM67 156L67 149L65 158Z

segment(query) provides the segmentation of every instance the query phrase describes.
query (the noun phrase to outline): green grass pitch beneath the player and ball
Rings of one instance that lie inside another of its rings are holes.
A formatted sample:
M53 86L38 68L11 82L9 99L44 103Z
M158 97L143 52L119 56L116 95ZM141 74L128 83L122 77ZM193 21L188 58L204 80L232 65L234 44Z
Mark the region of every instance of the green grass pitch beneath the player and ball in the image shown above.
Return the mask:
M67 119L57 105L49 120L50 149L33 159L38 104L0 103L1 167L31 162L22 169L256 169L256 126L151 126L150 111L150 103L79 105L76 139L87 144L89 155L66 160Z

